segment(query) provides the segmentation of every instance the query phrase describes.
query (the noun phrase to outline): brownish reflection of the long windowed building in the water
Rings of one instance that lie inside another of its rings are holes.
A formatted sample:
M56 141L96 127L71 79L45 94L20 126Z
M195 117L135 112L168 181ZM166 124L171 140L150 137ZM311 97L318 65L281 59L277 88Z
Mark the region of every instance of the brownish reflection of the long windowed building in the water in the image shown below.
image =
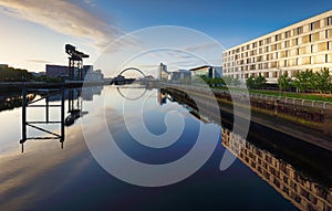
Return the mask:
M300 210L332 210L332 189L312 181L272 154L257 148L229 129L221 129L221 143L230 152Z

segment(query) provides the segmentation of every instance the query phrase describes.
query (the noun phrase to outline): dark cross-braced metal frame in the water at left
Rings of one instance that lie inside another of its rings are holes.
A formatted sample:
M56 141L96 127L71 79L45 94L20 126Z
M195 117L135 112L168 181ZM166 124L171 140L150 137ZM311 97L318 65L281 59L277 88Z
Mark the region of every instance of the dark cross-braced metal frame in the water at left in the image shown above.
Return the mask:
M27 95L29 94L29 92L40 92L40 93L45 93L45 96L42 96L41 98L33 101L33 102L28 102L28 97ZM49 101L50 101L50 96L54 96L54 95L60 95L60 101L61 101L61 105L50 105ZM42 99L45 99L44 105L31 105L34 104L37 102L40 102ZM34 107L34 108L43 108L45 109L45 120L34 120L34 122L29 122L27 119L27 114L28 114L28 108L29 107ZM60 108L60 113L61 113L61 119L60 120L50 120L50 107L58 107ZM56 134L54 131L50 131L45 128L43 128L43 125L49 125L49 124L60 124L60 134ZM38 126L37 126L38 125ZM39 131L42 131L49 136L39 136L39 137L28 137L27 136L27 128L31 127L33 129L37 129ZM22 152L24 151L24 146L23 144L27 140L30 139L59 139L61 143L61 148L63 148L63 141L64 141L64 87L54 89L54 88L50 88L50 89L28 89L28 88L23 88L22 89L22 139L20 140L20 144L22 146Z

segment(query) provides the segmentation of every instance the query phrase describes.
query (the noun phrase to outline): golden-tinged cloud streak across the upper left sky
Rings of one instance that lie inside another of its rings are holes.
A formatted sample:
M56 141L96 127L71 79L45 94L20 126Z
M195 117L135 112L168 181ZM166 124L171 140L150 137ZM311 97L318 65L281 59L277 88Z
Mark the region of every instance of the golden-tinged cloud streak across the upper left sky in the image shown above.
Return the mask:
M85 0L91 7L94 1ZM3 12L46 27L61 34L84 39L98 49L115 40L122 32L100 17L64 0L2 0Z

